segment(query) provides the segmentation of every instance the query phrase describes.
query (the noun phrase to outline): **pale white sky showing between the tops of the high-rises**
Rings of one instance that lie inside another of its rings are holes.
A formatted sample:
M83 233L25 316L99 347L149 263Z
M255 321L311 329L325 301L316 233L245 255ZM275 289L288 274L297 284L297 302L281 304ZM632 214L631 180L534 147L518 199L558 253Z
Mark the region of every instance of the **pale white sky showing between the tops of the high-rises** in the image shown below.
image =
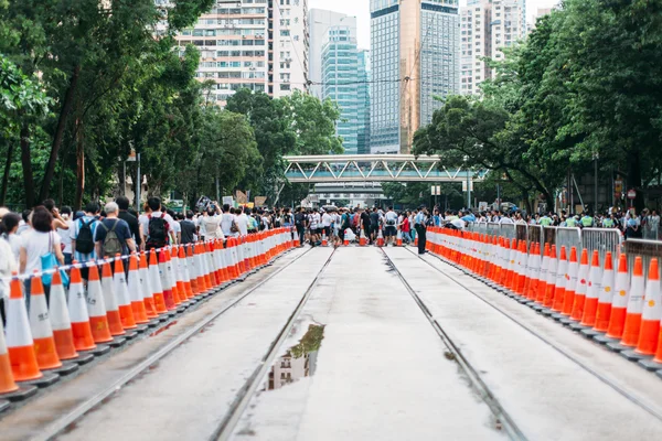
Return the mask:
M466 0L460 0L465 4ZM526 15L530 21L538 8L549 8L558 0L526 0ZM370 49L370 0L308 0L309 9L328 9L348 15L356 15L359 25L359 47Z

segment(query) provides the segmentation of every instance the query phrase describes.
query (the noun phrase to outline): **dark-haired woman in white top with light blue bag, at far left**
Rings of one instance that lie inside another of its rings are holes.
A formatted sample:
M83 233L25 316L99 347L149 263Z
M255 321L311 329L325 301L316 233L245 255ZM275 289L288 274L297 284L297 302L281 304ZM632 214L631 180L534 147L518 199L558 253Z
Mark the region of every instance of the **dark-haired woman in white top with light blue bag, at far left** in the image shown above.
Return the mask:
M35 270L42 271L42 256L54 252L60 265L64 265L64 255L60 247L60 235L53 230L53 215L43 206L34 208L31 215L32 229L23 233L19 271L31 275ZM49 290L44 287L46 299ZM25 281L25 302L30 311L30 279Z

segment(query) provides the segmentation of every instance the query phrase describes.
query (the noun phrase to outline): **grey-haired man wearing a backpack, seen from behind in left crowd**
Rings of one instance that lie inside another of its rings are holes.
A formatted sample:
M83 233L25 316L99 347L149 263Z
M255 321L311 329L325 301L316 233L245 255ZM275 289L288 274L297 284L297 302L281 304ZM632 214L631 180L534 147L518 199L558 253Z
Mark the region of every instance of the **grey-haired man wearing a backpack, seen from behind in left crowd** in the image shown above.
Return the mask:
M117 217L119 215L117 203L107 203L104 212L106 217L99 222L95 235L97 256L100 258L128 256L136 251L136 241L131 236L129 224Z

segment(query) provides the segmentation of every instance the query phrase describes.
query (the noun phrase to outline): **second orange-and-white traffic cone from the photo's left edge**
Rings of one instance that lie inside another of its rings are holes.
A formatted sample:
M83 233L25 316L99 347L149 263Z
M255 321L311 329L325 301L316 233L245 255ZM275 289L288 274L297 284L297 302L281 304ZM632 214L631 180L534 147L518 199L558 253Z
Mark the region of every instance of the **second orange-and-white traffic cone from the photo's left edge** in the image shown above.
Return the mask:
M15 277L10 282L7 323L7 348L14 380L26 381L41 378L43 374L39 370L36 354L34 353L34 343L30 332L21 282Z

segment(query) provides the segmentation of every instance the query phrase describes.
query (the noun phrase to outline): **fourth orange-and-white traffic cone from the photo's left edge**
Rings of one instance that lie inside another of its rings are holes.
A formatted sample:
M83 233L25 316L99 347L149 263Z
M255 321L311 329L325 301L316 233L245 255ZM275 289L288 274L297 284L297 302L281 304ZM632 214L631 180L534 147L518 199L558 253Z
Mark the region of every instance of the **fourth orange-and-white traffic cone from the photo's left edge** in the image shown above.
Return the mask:
M60 359L72 359L78 357L74 346L74 333L72 331L72 321L66 305L66 295L62 286L60 271L53 273L51 280L51 304L49 309L51 315L51 326L53 327L53 338L55 340L55 349Z

